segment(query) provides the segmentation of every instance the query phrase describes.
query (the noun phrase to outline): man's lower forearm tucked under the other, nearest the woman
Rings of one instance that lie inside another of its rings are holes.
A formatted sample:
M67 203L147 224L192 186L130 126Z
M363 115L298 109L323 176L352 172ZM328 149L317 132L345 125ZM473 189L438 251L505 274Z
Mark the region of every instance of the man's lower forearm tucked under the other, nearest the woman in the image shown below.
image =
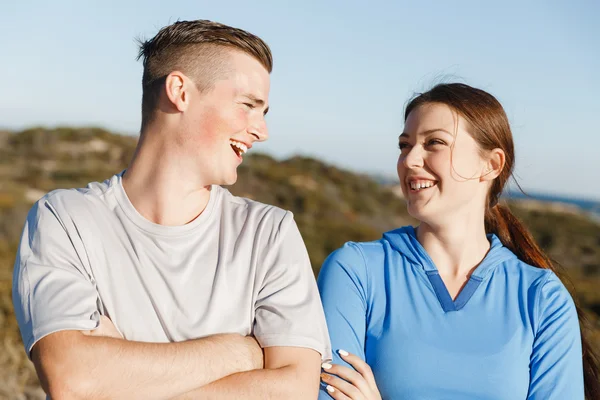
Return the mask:
M229 375L175 400L311 400L318 391L319 369L290 365Z

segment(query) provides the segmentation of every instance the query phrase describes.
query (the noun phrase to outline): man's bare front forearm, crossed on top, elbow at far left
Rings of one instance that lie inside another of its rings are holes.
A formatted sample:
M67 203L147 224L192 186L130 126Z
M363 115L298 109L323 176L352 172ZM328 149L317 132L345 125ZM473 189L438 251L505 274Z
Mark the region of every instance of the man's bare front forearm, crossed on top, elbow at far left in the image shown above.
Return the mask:
M57 398L166 399L257 368L256 350L248 340L252 339L225 334L179 343L143 343L82 335L70 355L50 354L56 351L52 347L64 346L46 346L36 357L42 366L55 363L43 369L52 371L44 380Z

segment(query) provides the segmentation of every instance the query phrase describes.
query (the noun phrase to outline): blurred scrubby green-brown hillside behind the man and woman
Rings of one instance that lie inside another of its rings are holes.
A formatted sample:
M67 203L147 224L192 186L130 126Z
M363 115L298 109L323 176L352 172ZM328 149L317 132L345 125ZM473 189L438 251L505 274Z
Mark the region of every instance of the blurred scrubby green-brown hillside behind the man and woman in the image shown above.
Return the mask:
M10 294L27 211L52 189L82 187L121 171L135 144L136 138L99 128L0 131L0 398L43 398L20 342ZM230 190L293 211L315 273L344 242L377 239L386 230L414 222L392 188L311 158L278 161L251 152ZM600 349L600 224L543 202L510 205L567 271Z

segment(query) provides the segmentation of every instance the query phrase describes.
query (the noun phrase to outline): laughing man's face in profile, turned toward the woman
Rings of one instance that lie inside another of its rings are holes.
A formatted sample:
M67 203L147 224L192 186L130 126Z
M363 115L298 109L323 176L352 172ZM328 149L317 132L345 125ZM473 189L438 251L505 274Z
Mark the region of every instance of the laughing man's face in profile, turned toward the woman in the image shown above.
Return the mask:
M254 142L268 138L269 73L255 58L230 51L231 71L204 93L190 92L184 118L187 156L206 184L232 185Z

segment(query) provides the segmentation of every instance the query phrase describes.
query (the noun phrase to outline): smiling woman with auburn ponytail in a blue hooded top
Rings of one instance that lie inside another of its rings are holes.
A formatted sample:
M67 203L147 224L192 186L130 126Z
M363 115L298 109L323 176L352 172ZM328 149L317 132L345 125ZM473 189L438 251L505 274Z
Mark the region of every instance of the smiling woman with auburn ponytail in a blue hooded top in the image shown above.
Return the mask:
M585 370L598 399L571 296L498 203L514 167L500 103L438 85L408 104L399 147L420 224L325 261L318 282L338 354L323 364L320 398L576 400Z

